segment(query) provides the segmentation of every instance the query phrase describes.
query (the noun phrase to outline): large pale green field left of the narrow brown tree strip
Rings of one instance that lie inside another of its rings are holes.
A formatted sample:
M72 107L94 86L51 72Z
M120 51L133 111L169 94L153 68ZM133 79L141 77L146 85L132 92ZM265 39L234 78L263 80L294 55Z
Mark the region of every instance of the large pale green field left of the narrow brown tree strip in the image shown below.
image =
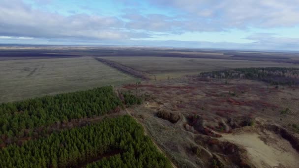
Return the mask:
M93 57L3 60L0 61L0 102L137 80Z

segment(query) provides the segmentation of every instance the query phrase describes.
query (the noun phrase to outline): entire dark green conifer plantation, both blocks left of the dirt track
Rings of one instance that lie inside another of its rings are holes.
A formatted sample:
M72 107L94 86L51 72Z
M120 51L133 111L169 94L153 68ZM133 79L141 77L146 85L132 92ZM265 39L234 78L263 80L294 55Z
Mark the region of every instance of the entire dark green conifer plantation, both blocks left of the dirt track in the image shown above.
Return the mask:
M19 139L22 143L12 141L0 146L0 168L171 167L169 160L144 135L142 126L128 115L108 115L98 122L32 139L36 129L119 112L121 106L112 86L2 103L0 142Z

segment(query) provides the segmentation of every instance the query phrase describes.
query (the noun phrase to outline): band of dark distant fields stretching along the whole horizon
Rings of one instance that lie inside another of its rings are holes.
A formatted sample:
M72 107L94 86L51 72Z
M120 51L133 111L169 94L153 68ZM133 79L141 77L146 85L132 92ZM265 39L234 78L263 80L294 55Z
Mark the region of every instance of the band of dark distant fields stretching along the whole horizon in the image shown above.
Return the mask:
M160 48L160 47L113 47L113 46L35 46L0 45L0 57L34 56L159 56L210 59L258 60L299 63L298 52L234 51L216 49Z

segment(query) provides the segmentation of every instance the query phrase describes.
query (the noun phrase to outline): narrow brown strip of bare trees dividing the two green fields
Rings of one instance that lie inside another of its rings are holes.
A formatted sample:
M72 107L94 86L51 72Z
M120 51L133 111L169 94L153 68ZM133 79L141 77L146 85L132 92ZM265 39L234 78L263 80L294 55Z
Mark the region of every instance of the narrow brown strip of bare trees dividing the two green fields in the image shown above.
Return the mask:
M147 73L135 70L133 68L127 67L125 65L122 65L122 64L117 63L117 62L112 61L112 60L103 59L103 58L99 58L99 57L94 57L94 58L96 60L100 61L100 62L103 62L103 63L105 63L105 64L107 64L107 65L109 65L111 67L114 67L114 68L120 70L121 72L133 75L133 76L135 76L137 78L141 78L141 79L144 79L144 80L150 79Z

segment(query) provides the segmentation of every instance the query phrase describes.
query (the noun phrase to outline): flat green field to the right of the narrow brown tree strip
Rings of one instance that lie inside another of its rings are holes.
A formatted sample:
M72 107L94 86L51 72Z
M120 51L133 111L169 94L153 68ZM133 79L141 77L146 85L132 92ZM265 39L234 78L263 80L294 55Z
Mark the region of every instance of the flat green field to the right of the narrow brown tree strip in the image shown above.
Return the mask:
M109 56L110 59L139 71L156 75L157 79L176 78L182 75L199 74L203 71L224 70L243 67L297 67L298 64L271 61L249 61L232 59L155 57L155 56Z

